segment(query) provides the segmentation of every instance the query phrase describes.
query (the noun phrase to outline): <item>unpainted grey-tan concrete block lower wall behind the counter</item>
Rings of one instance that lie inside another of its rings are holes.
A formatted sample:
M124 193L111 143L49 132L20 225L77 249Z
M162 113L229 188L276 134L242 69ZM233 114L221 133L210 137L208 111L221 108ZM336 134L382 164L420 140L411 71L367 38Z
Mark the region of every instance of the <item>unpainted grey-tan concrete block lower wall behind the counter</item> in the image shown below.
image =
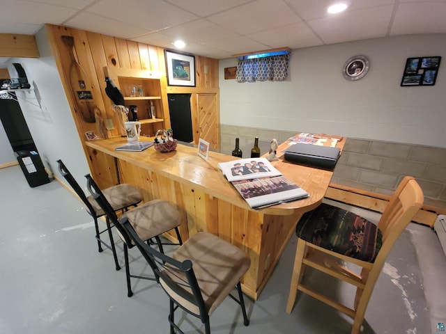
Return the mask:
M270 149L272 138L283 143L294 134L220 125L220 150L231 154L238 137L243 157L249 157L254 137L258 136L261 154L264 154ZM332 182L390 195L406 175L417 179L424 191L425 204L446 207L446 148L347 138Z

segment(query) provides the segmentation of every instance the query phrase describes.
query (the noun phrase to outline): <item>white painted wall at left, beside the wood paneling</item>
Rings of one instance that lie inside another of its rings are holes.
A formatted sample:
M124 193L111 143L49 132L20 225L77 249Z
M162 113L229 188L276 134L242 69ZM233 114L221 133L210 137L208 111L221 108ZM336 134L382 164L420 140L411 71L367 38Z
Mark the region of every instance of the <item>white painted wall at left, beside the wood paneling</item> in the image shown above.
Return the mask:
M11 58L8 61L10 76L17 76L12 63L21 63L34 89L17 92L20 107L45 166L61 177L56 160L62 159L79 184L84 185L84 175L89 173L89 166L49 49L45 28L36 35L36 42L40 58ZM5 145L9 145L8 139L5 143L0 136L0 146ZM65 181L63 177L61 180Z

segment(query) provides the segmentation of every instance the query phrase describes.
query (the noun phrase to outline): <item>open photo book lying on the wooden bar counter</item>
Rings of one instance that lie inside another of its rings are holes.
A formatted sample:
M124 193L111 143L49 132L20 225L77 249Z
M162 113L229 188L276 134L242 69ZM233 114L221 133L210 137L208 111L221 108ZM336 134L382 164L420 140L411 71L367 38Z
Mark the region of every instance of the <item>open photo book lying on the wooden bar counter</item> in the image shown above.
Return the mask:
M218 164L249 207L261 209L307 198L307 191L287 179L265 158L238 159Z

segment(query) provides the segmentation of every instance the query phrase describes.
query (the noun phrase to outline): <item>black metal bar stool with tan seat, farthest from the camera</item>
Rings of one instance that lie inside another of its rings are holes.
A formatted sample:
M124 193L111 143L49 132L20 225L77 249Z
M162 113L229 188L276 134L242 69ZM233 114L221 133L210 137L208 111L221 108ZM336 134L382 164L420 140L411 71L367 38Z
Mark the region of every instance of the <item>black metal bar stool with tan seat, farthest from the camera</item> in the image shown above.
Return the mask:
M75 180L66 168L65 164L63 164L62 160L57 160L59 164L59 172L65 178L65 180L70 184L72 189L77 193L77 196L84 202L86 206L86 212L89 213L90 216L93 217L93 221L95 223L95 238L98 241L98 251L102 252L102 245L112 250L114 263L116 266L116 270L121 269L118 264L118 257L116 255L116 248L114 246L114 239L112 234L113 225L110 224L108 218L106 218L107 228L105 230L100 230L98 224L98 218L105 216L105 212L101 209L98 203L93 199L92 196L86 196L84 190L82 190L79 183ZM111 203L114 211L128 210L129 207L137 207L139 202L142 201L142 195L137 189L137 187L132 186L130 184L117 184L116 186L110 186L107 189L103 190L105 197ZM100 235L104 232L108 232L110 244L107 244L105 241L100 239Z

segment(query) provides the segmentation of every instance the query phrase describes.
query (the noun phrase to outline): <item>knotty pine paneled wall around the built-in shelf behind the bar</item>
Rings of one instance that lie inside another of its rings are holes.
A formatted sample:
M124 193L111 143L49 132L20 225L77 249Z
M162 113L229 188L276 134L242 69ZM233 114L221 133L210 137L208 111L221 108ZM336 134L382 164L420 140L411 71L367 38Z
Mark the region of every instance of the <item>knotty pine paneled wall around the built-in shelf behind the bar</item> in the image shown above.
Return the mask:
M217 59L195 56L195 87L167 86L164 49L161 47L114 38L99 33L81 31L66 26L47 24L46 29L49 43L56 59L56 65L61 74L63 88L66 91L68 103L70 104L82 143L86 140L86 132L94 131L95 134L100 134L100 129L98 129L96 123L86 122L82 117L82 113L86 112L85 108L93 109L93 112L100 115L102 121L107 119L113 120L114 129L107 130L106 136L120 136L118 132L119 119L112 111L112 101L105 93L104 74L104 67L117 67L160 72L164 119L169 118L168 93L191 93L194 141L198 143L198 138L201 137L209 141L212 148L220 148L219 72ZM68 47L63 40L63 36L70 36L74 40L74 46ZM93 101L89 106L86 106L87 102L84 101L84 104L82 104L82 101L79 101L75 92L76 88L72 87L75 86L75 83L72 83L72 78L73 65L76 67L76 63L80 68L76 72L77 77L85 81L86 88L84 90L91 91L93 95ZM210 95L212 98L203 100L200 98L202 94ZM202 116L199 116L199 110L201 110L200 115ZM205 118L212 118L212 121L206 121L212 126L212 129L203 129L203 115L206 116ZM209 140L210 138L211 140ZM86 150L85 152L87 154ZM91 166L91 161L89 161L89 164L93 171L94 168Z

